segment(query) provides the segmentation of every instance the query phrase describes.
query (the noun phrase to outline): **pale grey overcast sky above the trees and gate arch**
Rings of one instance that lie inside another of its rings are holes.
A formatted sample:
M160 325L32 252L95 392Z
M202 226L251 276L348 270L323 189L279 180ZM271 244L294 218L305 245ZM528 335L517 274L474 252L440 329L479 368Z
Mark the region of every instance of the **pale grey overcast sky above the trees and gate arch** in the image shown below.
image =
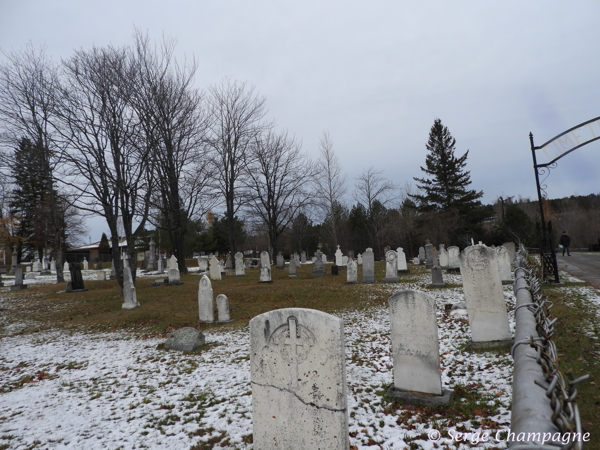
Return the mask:
M440 118L489 203L536 197L529 132L539 145L600 116L598 17L598 0L0 0L0 47L60 59L130 44L135 27L176 38L199 88L254 85L315 157L327 130L349 191L369 166L414 185ZM599 179L595 142L559 161L548 194L600 193Z

